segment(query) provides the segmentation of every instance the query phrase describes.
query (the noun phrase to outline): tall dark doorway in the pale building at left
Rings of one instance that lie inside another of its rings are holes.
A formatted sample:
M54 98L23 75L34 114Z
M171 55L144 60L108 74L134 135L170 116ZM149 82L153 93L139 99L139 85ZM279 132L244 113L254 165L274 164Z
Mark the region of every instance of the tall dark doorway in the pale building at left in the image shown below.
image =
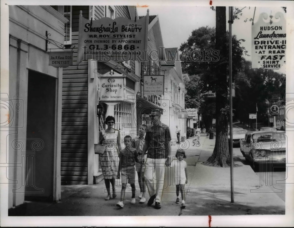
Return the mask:
M56 79L29 71L25 200L53 200Z

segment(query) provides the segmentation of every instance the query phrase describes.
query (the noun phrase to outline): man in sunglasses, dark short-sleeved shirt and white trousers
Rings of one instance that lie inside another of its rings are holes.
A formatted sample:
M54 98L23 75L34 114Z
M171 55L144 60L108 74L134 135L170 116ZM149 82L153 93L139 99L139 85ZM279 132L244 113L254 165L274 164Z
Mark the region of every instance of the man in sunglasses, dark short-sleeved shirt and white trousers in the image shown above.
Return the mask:
M152 125L147 128L142 154L147 151L144 177L150 195L147 205L154 203L155 208L161 208L161 197L164 185L165 166L171 164L171 132L169 127L160 121L161 111L152 110L150 119Z

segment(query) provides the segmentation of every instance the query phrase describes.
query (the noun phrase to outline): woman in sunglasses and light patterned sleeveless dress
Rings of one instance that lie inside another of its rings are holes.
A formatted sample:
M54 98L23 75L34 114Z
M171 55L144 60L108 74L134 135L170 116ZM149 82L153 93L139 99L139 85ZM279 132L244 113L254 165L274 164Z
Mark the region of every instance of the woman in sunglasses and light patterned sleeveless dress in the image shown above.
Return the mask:
M100 132L99 144L104 144L106 150L104 154L99 155L99 162L107 190L105 200L109 200L111 198L110 183L112 185L112 197L116 198L115 179L118 179L118 151L121 150L121 136L120 132L113 128L113 125L115 124L115 118L113 116L107 116L105 122L107 128Z

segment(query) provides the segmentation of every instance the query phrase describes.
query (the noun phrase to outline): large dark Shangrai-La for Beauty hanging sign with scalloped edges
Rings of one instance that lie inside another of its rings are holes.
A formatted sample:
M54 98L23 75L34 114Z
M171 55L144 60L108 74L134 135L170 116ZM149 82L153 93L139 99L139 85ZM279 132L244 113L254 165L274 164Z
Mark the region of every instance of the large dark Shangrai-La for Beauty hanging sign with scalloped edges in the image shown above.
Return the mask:
M80 14L78 64L82 60L123 62L145 59L149 14L136 21L124 17L88 20Z

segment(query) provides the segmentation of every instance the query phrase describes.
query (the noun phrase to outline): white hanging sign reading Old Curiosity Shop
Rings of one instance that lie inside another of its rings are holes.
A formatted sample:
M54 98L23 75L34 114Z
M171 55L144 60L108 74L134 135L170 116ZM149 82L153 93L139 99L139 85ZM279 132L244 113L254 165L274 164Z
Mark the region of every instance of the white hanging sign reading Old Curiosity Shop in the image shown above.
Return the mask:
M124 77L101 77L99 79L100 101L124 99Z

